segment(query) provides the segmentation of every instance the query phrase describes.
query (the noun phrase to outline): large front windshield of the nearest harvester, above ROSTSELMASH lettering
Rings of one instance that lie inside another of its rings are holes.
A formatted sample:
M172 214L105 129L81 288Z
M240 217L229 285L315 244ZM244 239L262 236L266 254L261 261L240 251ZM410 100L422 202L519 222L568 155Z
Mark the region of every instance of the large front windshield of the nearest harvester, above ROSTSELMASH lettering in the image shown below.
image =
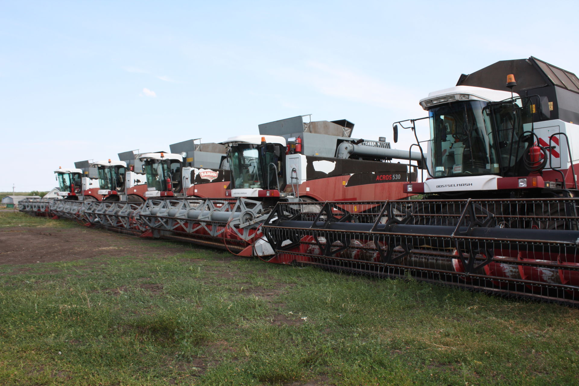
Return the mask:
M430 110L433 177L497 174L499 159L486 102L452 102Z

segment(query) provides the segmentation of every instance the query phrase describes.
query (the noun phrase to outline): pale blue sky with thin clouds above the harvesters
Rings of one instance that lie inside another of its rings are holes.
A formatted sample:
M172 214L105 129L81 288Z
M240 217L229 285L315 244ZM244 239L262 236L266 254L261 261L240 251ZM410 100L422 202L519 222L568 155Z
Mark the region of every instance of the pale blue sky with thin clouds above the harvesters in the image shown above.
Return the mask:
M579 72L579 2L0 0L0 191L53 170L312 113L354 137L461 73L536 56ZM426 139L427 131L419 135ZM407 149L411 133L397 148Z

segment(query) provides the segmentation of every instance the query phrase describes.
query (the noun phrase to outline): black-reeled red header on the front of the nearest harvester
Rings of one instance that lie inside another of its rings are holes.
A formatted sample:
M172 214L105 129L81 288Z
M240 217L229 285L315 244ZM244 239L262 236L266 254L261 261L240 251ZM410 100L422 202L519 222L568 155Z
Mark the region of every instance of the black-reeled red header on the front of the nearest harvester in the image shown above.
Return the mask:
M579 305L576 198L278 203L269 261ZM537 208L545 215L529 215ZM309 208L309 209L308 209ZM360 214L362 212L362 214Z

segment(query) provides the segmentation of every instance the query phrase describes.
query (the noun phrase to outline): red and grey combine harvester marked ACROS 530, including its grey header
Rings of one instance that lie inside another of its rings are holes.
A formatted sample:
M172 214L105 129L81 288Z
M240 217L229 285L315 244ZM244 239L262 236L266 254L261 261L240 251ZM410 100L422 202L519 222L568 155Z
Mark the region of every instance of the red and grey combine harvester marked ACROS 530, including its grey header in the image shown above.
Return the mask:
M386 161L420 160L420 153L390 149L383 139L351 138L353 127L347 120L305 123L298 116L259 125L260 135L229 138L223 144L232 189L224 198L149 198L138 214L149 229L144 236L265 256L273 251L261 227L280 200L317 210L316 201L410 196L402 188L415 181L417 166Z

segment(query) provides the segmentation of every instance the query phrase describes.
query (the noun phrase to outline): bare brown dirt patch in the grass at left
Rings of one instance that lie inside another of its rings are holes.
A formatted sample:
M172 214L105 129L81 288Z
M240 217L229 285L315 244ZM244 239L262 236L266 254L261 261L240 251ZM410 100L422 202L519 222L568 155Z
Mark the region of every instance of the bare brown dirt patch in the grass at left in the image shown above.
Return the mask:
M166 248L152 247L148 241L100 229L0 228L0 264L69 262L111 254L137 258L167 254ZM170 249L170 253L186 251L190 249L178 244Z

